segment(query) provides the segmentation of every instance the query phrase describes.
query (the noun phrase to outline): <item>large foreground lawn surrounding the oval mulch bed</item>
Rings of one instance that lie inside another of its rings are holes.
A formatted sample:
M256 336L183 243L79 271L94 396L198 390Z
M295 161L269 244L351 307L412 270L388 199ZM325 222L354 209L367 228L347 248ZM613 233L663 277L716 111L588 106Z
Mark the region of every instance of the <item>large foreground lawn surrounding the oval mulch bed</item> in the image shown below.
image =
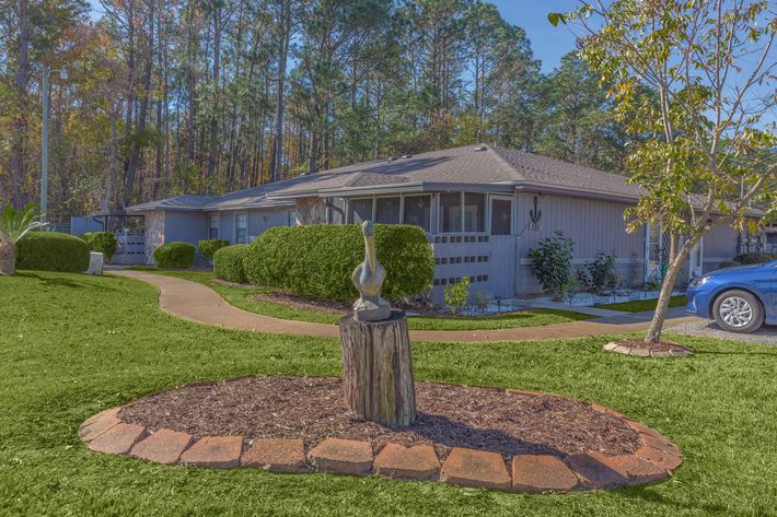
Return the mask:
M608 406L671 437L668 482L525 495L334 474L165 467L92 453L77 430L166 387L252 374L338 375L336 340L227 330L121 278L0 278L0 515L766 516L777 502L777 348L672 337L691 359L601 351L611 338L414 343L416 376Z

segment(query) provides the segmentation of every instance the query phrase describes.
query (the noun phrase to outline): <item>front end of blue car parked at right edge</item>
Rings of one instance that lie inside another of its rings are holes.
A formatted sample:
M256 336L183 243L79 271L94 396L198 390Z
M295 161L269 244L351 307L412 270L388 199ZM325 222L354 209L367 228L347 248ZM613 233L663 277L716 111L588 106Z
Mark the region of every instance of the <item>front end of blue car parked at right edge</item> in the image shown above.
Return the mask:
M685 312L731 332L777 325L777 260L707 273L688 285Z

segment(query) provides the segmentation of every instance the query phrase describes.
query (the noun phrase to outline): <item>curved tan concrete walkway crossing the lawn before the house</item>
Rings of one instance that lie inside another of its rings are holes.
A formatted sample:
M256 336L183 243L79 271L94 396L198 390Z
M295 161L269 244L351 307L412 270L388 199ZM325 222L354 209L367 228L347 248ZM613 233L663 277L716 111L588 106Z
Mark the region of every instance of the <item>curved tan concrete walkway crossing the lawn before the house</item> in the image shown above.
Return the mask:
M335 325L279 319L240 309L228 304L216 291L190 280L134 270L112 270L109 274L142 280L155 285L160 290L160 307L174 316L190 321L258 332L321 338L339 337L339 329ZM583 338L645 331L649 321L650 313L635 313L543 327L495 330L411 330L410 339L413 341L482 342ZM698 318L685 316L682 308L680 312L673 309L669 314L666 328L691 321L698 321Z

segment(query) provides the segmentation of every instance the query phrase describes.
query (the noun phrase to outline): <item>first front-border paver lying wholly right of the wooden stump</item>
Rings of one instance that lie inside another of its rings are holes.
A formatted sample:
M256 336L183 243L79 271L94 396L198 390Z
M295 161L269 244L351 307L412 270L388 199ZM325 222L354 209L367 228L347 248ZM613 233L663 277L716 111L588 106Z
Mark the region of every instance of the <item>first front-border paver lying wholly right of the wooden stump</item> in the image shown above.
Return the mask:
M454 447L448 455L440 481L488 489L509 489L511 484L502 455L463 447Z

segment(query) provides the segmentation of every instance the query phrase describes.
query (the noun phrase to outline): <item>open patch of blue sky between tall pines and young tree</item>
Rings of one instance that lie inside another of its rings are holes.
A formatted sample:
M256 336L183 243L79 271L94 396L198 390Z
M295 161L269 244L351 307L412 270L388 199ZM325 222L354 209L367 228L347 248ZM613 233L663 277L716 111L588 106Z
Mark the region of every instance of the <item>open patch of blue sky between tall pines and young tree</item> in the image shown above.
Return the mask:
M543 72L552 72L561 62L561 56L575 49L575 36L569 28L550 25L547 13L570 11L578 4L576 0L490 0L490 3L505 20L526 31L534 56L543 62Z

